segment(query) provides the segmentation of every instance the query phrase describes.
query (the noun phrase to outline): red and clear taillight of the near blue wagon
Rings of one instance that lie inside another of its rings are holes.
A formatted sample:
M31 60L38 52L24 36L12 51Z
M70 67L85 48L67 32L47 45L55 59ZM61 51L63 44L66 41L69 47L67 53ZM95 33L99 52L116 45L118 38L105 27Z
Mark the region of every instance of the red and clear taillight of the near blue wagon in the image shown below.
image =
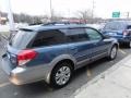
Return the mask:
M24 65L29 62L37 56L37 52L34 50L22 50L17 54L17 65Z

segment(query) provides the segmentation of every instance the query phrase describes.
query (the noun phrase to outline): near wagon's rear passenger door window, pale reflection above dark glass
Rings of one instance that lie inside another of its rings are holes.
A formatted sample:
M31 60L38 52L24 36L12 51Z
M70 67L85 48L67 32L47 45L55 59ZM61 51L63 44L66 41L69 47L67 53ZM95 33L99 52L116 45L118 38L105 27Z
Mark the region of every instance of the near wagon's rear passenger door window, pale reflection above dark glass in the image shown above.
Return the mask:
M84 28L71 28L66 33L69 42L86 41L88 39Z

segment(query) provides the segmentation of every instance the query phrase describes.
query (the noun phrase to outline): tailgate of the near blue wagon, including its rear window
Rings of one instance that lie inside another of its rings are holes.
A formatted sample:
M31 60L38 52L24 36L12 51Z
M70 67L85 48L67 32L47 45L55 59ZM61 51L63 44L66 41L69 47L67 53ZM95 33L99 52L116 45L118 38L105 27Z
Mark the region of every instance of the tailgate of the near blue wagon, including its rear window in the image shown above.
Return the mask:
M17 65L17 54L20 51L29 48L29 44L35 37L36 33L31 29L21 29L19 33L10 40L7 46L7 52L2 56L3 66L7 73Z

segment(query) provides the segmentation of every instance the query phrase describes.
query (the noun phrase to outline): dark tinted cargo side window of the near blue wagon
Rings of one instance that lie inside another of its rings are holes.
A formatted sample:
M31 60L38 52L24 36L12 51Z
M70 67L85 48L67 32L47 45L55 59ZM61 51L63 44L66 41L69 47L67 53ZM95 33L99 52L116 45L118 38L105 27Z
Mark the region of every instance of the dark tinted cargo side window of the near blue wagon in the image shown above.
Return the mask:
M44 30L36 36L33 47L50 46L64 42L64 34L60 30Z

